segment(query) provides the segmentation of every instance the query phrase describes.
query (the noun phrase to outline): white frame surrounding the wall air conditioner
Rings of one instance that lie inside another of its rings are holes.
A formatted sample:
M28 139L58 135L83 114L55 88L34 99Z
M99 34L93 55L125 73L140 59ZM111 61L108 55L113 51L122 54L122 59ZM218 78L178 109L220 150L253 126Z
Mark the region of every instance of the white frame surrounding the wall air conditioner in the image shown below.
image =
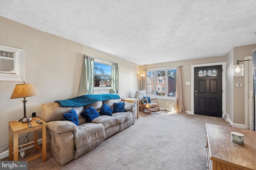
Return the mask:
M0 81L25 81L25 63L24 63L24 50L14 47L7 47L0 45L0 50L10 51L15 53L14 65L15 73L0 73Z

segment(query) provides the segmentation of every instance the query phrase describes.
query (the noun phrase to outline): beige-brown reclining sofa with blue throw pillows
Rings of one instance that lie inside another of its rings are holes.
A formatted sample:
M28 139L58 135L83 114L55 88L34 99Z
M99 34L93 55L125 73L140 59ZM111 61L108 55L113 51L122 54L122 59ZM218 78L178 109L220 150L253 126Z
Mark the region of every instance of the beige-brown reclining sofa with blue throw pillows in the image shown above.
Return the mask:
M103 103L113 108L114 103L121 99L97 101L80 107L60 107L59 103L42 104L42 120L46 124L47 152L61 165L78 158L98 146L105 138L130 127L135 123L136 105L125 103L125 112L112 113L112 116L100 115L90 123L80 113L92 106L100 111ZM76 110L79 125L71 121L64 121L63 114Z

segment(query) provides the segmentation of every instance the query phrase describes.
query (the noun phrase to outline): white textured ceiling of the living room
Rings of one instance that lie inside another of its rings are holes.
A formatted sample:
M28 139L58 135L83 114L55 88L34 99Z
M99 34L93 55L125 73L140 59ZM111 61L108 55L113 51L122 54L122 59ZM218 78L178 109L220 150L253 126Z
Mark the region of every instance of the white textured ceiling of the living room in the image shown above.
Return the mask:
M138 65L256 44L255 0L0 0L0 16Z

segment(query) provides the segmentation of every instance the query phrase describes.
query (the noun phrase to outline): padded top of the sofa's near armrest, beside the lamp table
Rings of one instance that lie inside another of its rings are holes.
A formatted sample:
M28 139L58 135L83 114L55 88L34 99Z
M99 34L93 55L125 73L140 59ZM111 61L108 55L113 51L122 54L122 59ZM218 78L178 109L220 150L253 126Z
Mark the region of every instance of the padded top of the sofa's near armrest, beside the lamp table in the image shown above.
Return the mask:
M46 127L56 133L64 133L68 131L78 131L77 126L70 121L51 121L46 124Z

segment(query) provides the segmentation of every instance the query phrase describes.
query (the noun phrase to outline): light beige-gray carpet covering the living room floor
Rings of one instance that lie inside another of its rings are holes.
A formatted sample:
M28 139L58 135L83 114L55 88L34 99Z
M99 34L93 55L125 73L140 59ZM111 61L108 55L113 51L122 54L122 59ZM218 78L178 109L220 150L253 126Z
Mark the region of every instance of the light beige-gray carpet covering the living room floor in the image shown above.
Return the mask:
M76 160L61 166L47 154L44 163L42 157L28 162L28 170L206 170L205 123L230 126L218 117L139 112L134 125Z

